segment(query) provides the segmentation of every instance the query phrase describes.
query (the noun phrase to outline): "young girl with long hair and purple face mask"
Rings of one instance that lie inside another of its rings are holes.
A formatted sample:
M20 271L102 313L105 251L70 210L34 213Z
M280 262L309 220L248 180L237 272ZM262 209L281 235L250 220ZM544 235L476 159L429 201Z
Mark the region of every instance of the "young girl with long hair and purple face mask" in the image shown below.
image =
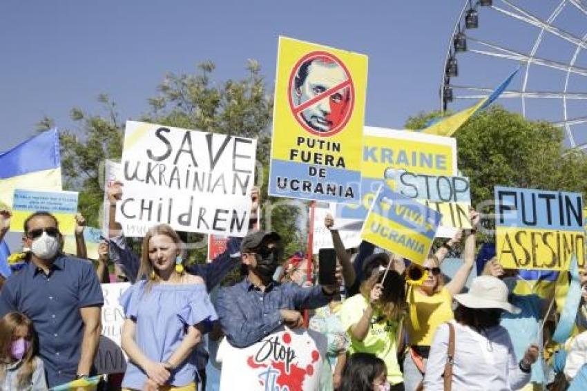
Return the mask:
M35 330L20 312L0 320L0 390L47 390L43 361L35 356Z

